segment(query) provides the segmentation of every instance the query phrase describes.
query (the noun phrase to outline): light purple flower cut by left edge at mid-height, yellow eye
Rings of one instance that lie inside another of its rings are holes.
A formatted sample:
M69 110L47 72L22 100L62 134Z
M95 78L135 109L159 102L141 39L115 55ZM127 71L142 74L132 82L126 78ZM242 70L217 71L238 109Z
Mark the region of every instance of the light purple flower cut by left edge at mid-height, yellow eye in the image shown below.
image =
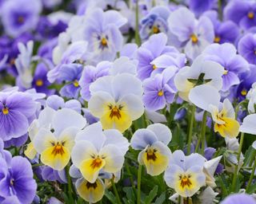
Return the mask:
M0 136L4 141L26 134L37 104L25 92L0 92Z

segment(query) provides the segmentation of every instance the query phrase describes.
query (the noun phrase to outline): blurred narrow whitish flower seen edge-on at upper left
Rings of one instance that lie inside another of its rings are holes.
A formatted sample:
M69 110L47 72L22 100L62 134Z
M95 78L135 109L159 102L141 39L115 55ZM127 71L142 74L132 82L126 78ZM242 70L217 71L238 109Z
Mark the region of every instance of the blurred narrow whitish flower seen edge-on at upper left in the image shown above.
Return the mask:
M18 72L18 78L24 88L30 88L33 80L32 77L32 54L34 42L28 41L26 45L18 43L18 57L15 60L15 66Z

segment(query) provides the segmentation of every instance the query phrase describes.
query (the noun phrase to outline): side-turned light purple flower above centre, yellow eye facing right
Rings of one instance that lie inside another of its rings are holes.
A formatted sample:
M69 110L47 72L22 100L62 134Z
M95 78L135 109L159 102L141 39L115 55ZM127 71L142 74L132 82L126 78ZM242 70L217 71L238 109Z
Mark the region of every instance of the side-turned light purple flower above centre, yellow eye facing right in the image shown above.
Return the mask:
M154 34L150 39L142 44L137 51L138 60L138 78L145 80L150 77L154 69L158 67L152 64L155 58L162 54L173 54L177 53L177 49L172 46L166 45L167 36L164 33Z

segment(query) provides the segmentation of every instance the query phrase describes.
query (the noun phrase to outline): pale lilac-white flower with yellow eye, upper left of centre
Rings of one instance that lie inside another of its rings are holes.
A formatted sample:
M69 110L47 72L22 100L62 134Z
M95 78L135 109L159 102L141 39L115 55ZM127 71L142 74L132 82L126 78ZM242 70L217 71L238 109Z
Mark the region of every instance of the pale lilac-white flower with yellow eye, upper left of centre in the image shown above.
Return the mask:
M122 48L122 33L119 28L126 24L118 11L101 9L92 10L86 15L84 39L88 41L90 60L113 61L116 53Z

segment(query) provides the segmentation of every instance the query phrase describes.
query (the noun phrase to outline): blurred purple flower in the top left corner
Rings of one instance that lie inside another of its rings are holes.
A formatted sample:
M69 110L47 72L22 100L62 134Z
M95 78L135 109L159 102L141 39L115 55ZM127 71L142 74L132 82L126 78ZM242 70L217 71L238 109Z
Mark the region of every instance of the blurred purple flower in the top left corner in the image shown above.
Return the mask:
M21 33L34 29L42 10L39 0L10 0L2 5L2 24L6 33L17 37Z

